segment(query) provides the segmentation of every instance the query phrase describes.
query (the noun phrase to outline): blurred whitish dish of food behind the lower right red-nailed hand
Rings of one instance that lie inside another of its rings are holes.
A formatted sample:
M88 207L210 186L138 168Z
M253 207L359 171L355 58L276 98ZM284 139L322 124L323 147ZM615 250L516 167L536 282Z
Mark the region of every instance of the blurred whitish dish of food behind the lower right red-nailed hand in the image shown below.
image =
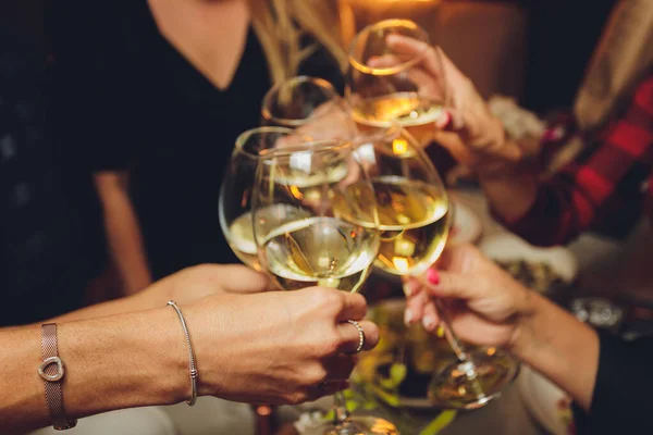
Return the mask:
M506 233L486 237L479 249L525 286L549 294L578 277L578 260L567 248L540 248Z

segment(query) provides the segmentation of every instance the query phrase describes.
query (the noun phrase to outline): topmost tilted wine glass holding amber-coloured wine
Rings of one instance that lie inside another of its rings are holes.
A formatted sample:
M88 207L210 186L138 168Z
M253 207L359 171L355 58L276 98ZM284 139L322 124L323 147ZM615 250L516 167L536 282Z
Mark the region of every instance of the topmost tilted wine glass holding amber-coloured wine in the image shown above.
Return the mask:
M390 35L423 42L417 53L389 45ZM444 115L446 87L440 51L428 57L429 36L410 20L365 27L349 48L345 95L360 130L397 124L422 147L433 140Z

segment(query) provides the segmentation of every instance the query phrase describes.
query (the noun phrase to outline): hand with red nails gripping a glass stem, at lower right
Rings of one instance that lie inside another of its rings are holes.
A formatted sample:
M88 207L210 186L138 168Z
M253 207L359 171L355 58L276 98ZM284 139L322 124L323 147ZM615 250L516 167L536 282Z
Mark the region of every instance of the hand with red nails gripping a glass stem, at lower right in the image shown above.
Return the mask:
M421 322L433 332L441 321L433 299L440 298L459 338L510 348L530 291L472 246L445 249L435 266L405 283L407 323Z

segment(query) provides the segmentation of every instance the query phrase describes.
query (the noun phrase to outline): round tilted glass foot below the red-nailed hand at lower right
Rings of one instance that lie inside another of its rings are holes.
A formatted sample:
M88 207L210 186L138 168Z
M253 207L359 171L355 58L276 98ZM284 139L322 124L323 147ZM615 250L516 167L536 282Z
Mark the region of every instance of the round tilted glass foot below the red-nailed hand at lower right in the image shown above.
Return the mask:
M468 361L455 362L435 374L429 385L434 406L477 409L500 396L519 373L519 362L497 348L467 352Z

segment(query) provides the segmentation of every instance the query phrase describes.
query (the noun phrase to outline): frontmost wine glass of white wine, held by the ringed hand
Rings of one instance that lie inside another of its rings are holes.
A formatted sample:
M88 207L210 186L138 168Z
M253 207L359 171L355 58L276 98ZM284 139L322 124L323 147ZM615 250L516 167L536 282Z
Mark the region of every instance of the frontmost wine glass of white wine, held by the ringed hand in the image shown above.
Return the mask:
M377 208L350 144L262 151L252 214L260 264L281 288L357 291L368 277L380 244ZM324 434L398 433L385 420L350 417L342 393L334 403Z

